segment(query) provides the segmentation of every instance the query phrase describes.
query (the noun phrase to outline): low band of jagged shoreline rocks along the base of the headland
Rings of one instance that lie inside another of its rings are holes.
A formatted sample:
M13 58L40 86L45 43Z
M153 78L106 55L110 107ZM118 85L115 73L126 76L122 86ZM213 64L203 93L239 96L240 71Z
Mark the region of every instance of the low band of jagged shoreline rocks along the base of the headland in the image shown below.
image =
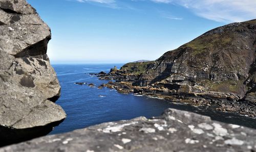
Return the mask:
M256 117L256 103L249 100L234 101L237 99L236 94L220 92L187 93L186 89L189 88L185 87L182 88L184 92L177 92L176 90L154 86L136 86L134 83L136 82L136 77L139 77L138 75L123 73L118 69L111 69L109 73L102 71L94 75L97 75L99 80L110 80L109 83L98 86L99 89L107 87L116 89L119 93L134 93L148 97L163 98L170 102L186 103L191 106L217 106L216 110ZM130 79L131 77L133 79Z

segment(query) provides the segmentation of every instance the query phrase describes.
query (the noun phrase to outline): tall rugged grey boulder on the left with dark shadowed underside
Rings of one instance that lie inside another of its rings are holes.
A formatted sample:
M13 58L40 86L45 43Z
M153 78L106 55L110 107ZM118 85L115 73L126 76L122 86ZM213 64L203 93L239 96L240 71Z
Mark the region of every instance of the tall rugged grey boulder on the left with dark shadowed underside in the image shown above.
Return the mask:
M0 146L45 135L66 117L46 55L51 32L25 0L0 1Z

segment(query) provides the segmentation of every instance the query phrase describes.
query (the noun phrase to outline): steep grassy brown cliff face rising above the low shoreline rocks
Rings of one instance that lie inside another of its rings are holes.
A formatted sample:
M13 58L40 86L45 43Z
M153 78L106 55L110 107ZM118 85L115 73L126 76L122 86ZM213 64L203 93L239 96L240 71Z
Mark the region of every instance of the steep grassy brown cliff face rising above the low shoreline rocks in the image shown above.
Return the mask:
M161 82L177 91L187 85L190 92L233 93L242 99L254 86L255 51L256 20L231 23L165 53L141 75L138 84Z

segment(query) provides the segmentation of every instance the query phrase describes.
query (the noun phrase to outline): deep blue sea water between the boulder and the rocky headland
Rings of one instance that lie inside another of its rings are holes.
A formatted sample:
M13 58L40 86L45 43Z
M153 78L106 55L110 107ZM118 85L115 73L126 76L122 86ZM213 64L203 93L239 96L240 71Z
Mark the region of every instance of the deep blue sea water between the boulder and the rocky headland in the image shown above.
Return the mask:
M151 118L161 115L167 108L192 111L210 116L214 120L256 128L256 119L239 114L215 111L213 108L171 103L164 99L120 94L116 90L108 88L98 89L100 84L109 81L98 80L95 75L89 73L109 72L114 65L118 68L122 66L122 64L53 64L61 86L61 96L56 104L65 110L67 118L50 134L65 133L103 122L132 119L139 116ZM95 87L74 84L76 82L93 83Z

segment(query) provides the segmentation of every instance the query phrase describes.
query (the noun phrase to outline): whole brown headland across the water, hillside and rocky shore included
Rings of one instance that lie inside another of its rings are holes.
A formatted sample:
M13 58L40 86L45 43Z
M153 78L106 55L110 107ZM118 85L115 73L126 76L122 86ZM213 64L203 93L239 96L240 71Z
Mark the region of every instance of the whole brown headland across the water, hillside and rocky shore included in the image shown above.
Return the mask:
M255 52L256 19L210 30L155 62L127 63L99 77L112 77L119 92L216 104L217 110L256 117Z

